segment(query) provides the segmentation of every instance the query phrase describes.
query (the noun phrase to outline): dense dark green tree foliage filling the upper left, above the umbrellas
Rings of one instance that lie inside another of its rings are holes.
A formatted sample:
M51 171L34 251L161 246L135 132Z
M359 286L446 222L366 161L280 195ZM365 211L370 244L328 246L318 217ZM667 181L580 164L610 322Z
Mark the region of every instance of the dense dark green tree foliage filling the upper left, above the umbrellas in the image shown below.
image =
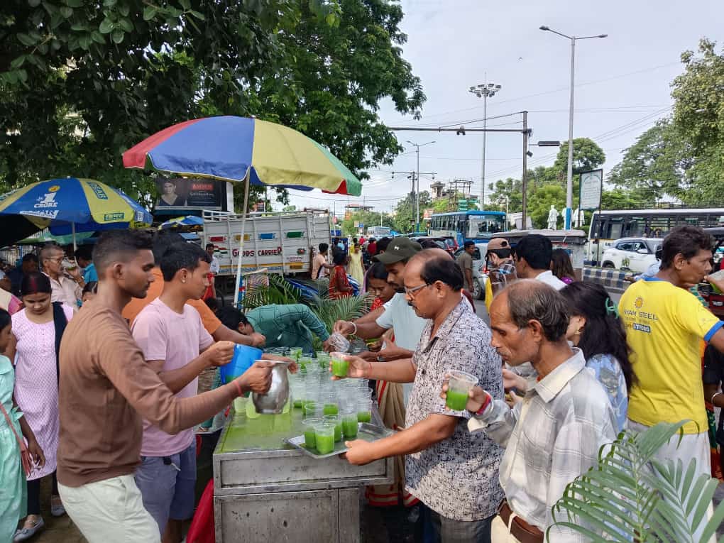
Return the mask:
M388 0L8 0L0 179L95 177L148 202L153 185L122 152L215 114L295 127L364 177L400 151L379 101L416 113L425 99L402 17Z

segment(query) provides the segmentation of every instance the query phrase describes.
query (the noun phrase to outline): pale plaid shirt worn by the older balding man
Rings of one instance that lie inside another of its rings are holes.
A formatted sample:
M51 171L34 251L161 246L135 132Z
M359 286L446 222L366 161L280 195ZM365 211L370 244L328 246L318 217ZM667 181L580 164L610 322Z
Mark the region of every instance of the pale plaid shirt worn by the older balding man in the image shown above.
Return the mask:
M529 380L523 401L510 409L493 400L481 416L468 421L471 432L484 430L505 447L500 484L516 515L546 531L551 508L568 483L598 462L602 445L616 437L616 418L601 384L586 369L581 350L547 376ZM565 521L564 513L556 513ZM587 542L571 530L555 527L550 541Z

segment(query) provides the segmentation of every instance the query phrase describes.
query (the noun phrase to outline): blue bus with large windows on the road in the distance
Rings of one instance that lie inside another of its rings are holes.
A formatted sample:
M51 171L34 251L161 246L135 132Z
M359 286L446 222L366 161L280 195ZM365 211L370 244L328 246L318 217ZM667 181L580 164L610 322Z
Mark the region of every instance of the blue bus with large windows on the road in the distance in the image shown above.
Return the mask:
M432 237L454 237L458 245L465 240L487 243L493 234L505 230L504 211L453 211L435 213L430 219Z

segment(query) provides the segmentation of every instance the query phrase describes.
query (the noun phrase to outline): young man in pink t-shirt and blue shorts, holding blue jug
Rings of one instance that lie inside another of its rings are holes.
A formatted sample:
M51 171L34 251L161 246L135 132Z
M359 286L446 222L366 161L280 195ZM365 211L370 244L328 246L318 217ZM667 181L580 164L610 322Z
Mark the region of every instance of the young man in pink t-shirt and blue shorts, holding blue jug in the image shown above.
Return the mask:
M133 338L149 366L179 398L195 396L198 374L228 363L229 341L214 343L201 316L186 302L198 300L209 286L211 257L197 245L174 246L161 257L164 290L138 313ZM181 541L181 521L193 516L196 481L193 429L172 435L143 421L141 465L135 481L143 507L159 525L164 543Z

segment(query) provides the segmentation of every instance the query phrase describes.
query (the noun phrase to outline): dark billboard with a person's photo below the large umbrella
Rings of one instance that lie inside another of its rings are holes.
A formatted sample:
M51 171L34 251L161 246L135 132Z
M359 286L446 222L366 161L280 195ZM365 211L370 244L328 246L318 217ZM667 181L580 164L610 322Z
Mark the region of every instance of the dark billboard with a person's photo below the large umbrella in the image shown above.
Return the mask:
M226 181L159 177L156 211L210 209L230 211L232 188ZM232 209L232 208L231 208Z

